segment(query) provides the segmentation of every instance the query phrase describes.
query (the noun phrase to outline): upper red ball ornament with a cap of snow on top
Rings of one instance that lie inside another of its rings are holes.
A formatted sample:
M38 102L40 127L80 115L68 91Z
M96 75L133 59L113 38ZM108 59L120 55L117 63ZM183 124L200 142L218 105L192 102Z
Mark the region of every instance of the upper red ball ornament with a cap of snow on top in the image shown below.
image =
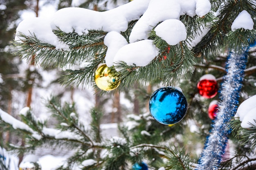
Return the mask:
M198 92L204 98L213 98L218 92L216 78L212 74L205 74L199 79Z

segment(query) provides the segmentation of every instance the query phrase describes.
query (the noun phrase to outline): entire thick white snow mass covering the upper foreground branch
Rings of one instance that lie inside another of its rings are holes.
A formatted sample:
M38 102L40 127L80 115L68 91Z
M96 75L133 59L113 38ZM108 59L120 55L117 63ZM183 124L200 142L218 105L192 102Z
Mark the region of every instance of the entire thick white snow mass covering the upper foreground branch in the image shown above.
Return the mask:
M74 5L80 3L81 1L76 0ZM147 40L153 27L163 22L156 27L157 35L168 44L175 45L186 39L186 28L179 21L180 15L203 17L210 9L209 0L133 0L104 12L70 7L56 11L51 19L31 17L23 20L16 31L27 36L35 35L40 41L56 46L56 49L69 50L52 30L59 28L65 33L74 31L78 35L83 35L90 30L102 29L108 32L104 40L108 46L106 54L108 66L118 61L124 61L128 65L146 66L158 54L152 41ZM130 45L119 33L126 31L128 22L132 20L138 22L132 28ZM16 34L16 41L22 39ZM136 41L139 43L137 44Z

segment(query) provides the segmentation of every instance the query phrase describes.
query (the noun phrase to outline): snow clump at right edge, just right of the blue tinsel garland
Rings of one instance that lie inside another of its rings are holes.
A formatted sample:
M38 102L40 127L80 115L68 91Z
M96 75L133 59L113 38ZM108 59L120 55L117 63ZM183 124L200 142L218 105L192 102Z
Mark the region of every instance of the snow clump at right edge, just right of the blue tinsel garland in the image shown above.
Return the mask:
M252 127L251 124L256 126L256 122L254 121L254 120L256 120L256 114L255 114L256 113L256 105L255 105L255 103L256 103L256 95L243 101L236 111L235 118L239 117L239 119L241 121L241 126L243 128ZM251 124L249 124L249 123L251 123Z

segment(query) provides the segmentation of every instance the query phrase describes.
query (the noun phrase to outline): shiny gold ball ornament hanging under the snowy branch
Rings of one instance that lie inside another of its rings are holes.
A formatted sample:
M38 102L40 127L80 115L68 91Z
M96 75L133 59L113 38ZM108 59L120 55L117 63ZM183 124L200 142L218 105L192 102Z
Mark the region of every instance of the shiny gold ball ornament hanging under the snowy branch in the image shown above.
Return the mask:
M97 87L105 91L116 89L120 81L115 73L116 71L110 70L106 64L100 65L94 74L94 81Z

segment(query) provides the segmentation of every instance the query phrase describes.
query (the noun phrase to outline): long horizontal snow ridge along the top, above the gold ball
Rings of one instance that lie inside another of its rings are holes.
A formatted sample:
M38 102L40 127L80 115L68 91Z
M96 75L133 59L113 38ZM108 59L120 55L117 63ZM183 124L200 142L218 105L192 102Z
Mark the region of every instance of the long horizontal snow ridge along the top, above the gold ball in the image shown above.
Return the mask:
M149 0L135 0L109 11L98 12L77 7L58 10L52 18L52 29L59 27L65 33L73 30L79 35L88 30L126 31L128 22L139 19L146 10Z

